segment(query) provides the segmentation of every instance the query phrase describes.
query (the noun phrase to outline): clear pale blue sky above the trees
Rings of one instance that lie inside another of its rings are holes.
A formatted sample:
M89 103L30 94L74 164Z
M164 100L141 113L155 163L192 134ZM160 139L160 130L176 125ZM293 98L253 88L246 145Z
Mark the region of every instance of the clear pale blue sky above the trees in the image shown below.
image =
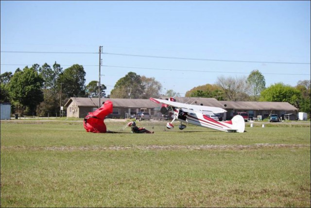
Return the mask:
M107 95L129 72L180 96L253 70L296 86L311 74L310 2L1 0L0 71L79 64Z

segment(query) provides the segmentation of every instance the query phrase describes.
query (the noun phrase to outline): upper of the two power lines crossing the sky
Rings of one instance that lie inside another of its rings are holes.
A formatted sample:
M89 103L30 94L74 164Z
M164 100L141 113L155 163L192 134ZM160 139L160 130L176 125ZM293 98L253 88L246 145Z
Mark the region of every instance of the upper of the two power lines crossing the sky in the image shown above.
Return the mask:
M29 53L29 54L98 54L96 52L40 52L40 51L0 51L1 53ZM311 64L306 62L278 62L278 61L251 61L251 60L226 60L226 59L208 59L208 58L185 58L185 57L162 57L134 54L116 54L103 53L106 55L129 56L129 57L148 57L148 58L168 58L181 60L200 60L200 61L220 61L220 62L241 62L241 63L270 63L270 64Z

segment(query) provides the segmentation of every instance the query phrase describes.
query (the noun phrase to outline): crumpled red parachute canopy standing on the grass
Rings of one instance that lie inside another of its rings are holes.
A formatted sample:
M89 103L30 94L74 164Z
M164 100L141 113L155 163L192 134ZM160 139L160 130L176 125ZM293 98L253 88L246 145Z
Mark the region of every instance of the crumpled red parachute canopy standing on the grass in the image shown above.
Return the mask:
M107 132L106 125L104 124L104 118L112 113L112 102L107 100L103 106L94 112L90 112L84 118L83 126L86 132L105 133Z

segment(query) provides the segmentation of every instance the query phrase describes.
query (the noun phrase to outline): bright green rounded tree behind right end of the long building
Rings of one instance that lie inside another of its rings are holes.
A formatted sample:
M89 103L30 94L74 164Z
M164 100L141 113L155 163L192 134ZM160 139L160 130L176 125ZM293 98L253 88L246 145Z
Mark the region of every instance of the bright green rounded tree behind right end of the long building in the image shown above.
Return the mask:
M282 82L271 85L260 94L260 101L288 102L299 109L301 92L296 88L285 85Z

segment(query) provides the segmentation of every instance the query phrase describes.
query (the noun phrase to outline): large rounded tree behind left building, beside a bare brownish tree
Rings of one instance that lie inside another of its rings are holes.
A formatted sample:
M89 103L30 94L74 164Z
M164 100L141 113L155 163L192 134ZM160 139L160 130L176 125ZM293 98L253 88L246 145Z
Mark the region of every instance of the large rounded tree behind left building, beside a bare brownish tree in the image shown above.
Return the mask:
M111 98L141 98L145 86L141 82L141 78L134 72L129 72L126 76L117 81L113 90L111 90Z

